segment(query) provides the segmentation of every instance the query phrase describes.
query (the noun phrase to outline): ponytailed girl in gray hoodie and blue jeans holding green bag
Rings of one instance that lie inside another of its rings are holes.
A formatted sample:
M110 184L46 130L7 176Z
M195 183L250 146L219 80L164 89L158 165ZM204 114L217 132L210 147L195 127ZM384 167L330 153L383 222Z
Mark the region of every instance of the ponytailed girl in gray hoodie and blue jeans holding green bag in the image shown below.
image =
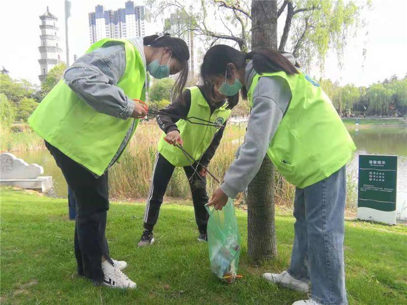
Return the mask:
M295 239L288 270L271 282L307 292L305 304L347 304L344 264L346 163L356 149L327 95L292 55L272 49L244 53L226 45L208 50L201 76L220 94L239 90L251 105L237 159L208 205L222 209L243 192L267 154L296 186ZM293 304L293 305L294 305Z

